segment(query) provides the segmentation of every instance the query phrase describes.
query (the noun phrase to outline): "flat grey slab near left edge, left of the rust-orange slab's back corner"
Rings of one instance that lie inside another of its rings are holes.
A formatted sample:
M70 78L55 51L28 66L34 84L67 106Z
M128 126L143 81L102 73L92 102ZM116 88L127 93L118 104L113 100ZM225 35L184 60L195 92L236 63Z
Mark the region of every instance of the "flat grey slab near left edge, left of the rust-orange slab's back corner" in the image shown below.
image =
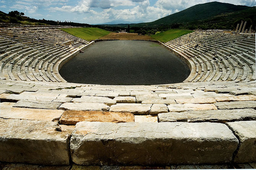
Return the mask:
M62 103L60 103L60 102L19 100L15 105L13 105L13 107L58 109L61 104Z

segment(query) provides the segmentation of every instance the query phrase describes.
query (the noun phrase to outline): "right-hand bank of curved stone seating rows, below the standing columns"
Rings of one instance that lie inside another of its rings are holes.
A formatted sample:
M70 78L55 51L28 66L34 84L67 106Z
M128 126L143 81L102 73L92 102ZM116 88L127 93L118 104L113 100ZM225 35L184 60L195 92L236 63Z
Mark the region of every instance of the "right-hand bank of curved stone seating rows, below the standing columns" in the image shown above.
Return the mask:
M164 45L188 58L191 74L184 82L255 79L253 34L195 31Z

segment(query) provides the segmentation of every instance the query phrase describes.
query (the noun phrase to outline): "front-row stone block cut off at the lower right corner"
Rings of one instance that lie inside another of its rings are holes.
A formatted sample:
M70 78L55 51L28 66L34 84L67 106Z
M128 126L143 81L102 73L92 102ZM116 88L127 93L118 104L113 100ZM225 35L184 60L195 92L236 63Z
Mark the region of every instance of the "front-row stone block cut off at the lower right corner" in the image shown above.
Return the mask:
M235 121L226 123L239 139L235 162L256 162L256 121Z

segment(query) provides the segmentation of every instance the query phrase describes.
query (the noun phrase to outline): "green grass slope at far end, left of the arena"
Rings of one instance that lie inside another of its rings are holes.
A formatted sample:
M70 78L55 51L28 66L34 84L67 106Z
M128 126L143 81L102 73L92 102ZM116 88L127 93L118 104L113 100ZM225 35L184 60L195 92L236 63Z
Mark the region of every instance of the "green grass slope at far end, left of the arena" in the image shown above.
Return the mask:
M87 41L98 39L110 33L99 28L62 28L61 30Z

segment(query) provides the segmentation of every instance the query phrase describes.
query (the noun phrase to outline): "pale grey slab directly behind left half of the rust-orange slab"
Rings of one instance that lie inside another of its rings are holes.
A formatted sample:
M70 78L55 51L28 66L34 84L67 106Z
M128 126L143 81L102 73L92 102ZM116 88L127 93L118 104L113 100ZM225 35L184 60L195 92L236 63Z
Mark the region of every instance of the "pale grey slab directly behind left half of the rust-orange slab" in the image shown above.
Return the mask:
M109 106L103 103L63 103L59 109L62 110L91 110L91 111L109 111Z

